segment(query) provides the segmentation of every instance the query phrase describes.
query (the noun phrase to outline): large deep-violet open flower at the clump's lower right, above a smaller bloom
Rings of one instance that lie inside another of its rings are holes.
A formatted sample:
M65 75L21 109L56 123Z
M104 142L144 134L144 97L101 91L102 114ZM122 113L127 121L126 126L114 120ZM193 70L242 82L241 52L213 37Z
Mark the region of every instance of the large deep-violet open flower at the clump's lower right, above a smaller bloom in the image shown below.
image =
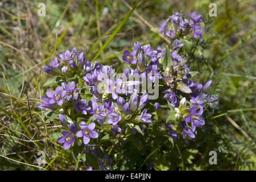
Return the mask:
M184 118L185 122L189 123L191 122L191 129L194 132L196 127L202 127L205 125L205 121L199 117L202 115L202 111L197 112L197 108L194 106L190 107L190 114L187 117Z

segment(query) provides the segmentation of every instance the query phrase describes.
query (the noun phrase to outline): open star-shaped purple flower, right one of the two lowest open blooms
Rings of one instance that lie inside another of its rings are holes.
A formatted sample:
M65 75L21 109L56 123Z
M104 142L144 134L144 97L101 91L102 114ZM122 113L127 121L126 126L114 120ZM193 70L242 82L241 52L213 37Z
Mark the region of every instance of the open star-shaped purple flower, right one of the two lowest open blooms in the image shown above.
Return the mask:
M83 137L83 144L90 142L90 138L98 138L98 133L93 131L95 128L95 123L90 123L88 126L85 122L80 123L81 129L75 134L77 137Z

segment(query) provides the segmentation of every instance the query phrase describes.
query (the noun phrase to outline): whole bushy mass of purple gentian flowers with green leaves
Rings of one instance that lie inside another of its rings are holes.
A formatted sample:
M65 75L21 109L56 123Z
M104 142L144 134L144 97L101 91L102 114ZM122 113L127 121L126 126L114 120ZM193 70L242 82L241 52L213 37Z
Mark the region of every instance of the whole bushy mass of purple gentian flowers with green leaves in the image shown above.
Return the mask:
M190 20L183 19L182 14L174 11L159 31L175 38L180 36L178 32L185 35L192 28L194 38L199 37L202 41L201 15L195 11L188 15ZM172 29L167 27L169 21ZM178 134L183 138L186 135L195 138L197 127L205 125L204 109L217 99L207 94L212 80L205 85L190 80L193 75L185 64L187 57L179 52L183 46L178 39L164 49L154 49L150 44L141 46L135 41L133 50L123 52L121 61L129 68L121 72L122 78L112 66L90 63L75 48L60 53L59 59L54 57L50 60L42 69L57 76L59 86L55 93L47 91L38 107L58 113L65 130L57 142L63 144L65 150L83 146L80 152L91 152L97 158L95 150L99 140L112 138L111 141L116 141L114 148L118 148L117 143L126 143L123 138L143 134L155 123L158 123L157 129L164 129L174 142ZM149 89L143 88L146 82L158 88L157 98L152 99ZM171 114L171 110L175 118L167 121L168 115L162 115L162 111ZM98 159L99 169L109 169L107 166L112 162L109 156ZM150 166L154 164L150 163Z

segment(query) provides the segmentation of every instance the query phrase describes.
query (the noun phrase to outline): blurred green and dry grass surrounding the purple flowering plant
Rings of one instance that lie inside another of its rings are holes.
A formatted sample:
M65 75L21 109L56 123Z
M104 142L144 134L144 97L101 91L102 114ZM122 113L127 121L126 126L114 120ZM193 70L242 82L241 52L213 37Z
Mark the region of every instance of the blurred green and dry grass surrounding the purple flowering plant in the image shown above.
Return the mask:
M42 2L45 17L37 15ZM217 4L217 17L208 16L211 2ZM49 158L43 168L85 169L82 162L77 167L74 155L56 143L61 126L37 108L51 84L41 65L73 47L92 60L129 10L123 0L0 2L0 169L41 169L37 164L40 150ZM157 28L174 10L197 10L203 16L205 42L190 66L199 71L198 82L213 80L210 92L219 95L220 104L214 113L208 112L206 125L195 140L175 143L181 155L174 146L170 158L162 159L161 154L170 151L159 148L155 155L161 164L156 169L255 170L255 1L141 0L98 62L118 68L114 52L131 49L135 40L154 48L165 45ZM208 162L212 150L217 151L217 165ZM171 166L165 166L166 160Z

